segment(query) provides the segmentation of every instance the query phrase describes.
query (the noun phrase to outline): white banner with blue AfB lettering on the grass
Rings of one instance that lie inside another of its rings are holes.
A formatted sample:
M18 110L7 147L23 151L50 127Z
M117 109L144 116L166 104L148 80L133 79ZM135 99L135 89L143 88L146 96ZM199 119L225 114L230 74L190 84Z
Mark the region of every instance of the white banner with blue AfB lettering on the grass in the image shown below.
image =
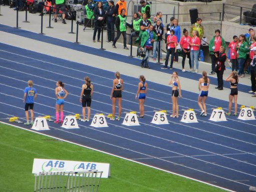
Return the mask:
M102 178L110 176L109 163L34 158L32 173L59 171L103 171Z

